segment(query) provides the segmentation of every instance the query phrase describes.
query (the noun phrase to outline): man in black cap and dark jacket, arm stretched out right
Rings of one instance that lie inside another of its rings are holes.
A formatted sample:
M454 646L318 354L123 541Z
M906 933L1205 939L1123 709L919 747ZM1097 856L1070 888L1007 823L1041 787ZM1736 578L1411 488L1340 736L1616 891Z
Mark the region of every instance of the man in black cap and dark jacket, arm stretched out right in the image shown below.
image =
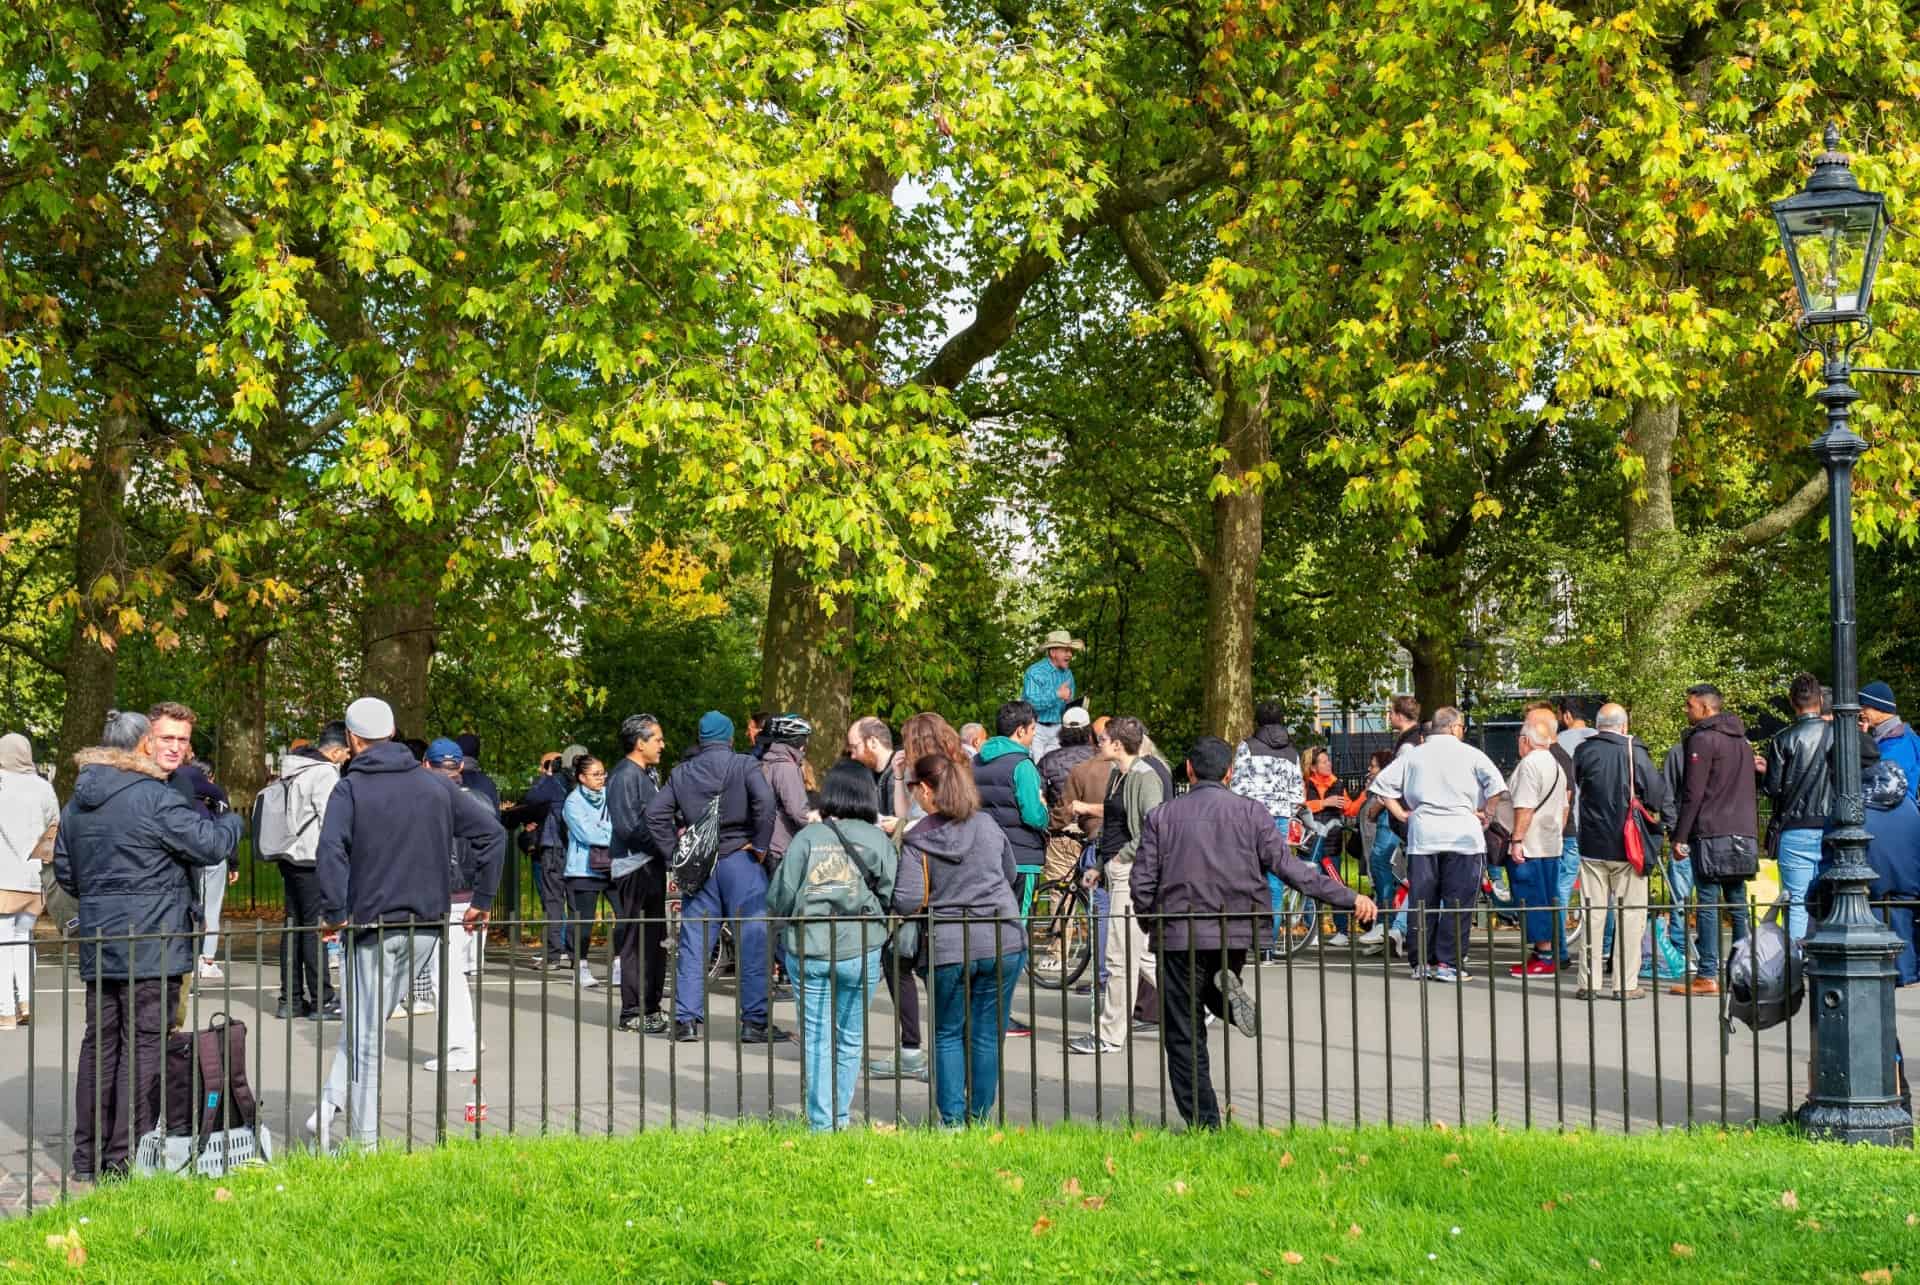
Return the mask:
M1188 1126L1219 1127L1202 1006L1242 1033L1256 1026L1240 985L1248 951L1273 932L1267 872L1308 897L1373 922L1371 897L1286 851L1267 809L1225 789L1233 747L1202 736L1187 755L1192 789L1146 816L1133 855L1133 907L1160 960L1162 1047L1173 1103Z

